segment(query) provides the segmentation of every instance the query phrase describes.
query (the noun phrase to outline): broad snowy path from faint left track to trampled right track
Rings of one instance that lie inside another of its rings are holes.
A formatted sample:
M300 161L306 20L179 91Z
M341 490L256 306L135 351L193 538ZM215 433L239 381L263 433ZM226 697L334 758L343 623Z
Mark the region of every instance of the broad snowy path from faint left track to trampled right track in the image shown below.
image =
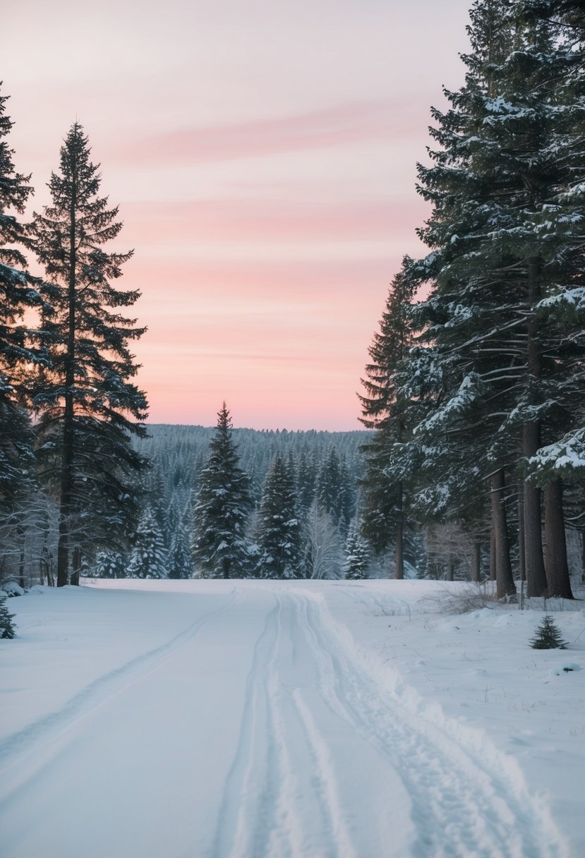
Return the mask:
M258 584L196 604L3 743L3 858L564 854L504 769L365 671L318 595Z

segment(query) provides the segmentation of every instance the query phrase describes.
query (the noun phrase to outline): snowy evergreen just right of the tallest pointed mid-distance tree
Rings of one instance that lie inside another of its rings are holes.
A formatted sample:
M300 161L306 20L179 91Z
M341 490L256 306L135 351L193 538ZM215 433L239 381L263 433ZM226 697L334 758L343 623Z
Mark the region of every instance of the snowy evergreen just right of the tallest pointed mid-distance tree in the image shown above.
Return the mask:
M256 540L259 577L304 577L294 477L280 455L275 456L264 482Z

